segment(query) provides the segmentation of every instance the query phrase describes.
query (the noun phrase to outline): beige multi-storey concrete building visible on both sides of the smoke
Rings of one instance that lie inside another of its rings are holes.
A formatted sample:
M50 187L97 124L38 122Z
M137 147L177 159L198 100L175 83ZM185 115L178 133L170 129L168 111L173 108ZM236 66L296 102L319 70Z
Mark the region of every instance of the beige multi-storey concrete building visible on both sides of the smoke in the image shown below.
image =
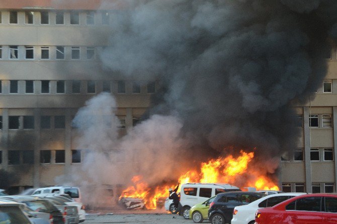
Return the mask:
M102 1L0 3L0 168L19 172L12 192L54 185L80 166L71 126L77 109L102 91L116 96L120 134L144 114L156 80L125 80L103 69L98 54L108 45L114 10ZM337 58L306 105L294 105L302 137L282 156L284 191L334 192L337 184Z

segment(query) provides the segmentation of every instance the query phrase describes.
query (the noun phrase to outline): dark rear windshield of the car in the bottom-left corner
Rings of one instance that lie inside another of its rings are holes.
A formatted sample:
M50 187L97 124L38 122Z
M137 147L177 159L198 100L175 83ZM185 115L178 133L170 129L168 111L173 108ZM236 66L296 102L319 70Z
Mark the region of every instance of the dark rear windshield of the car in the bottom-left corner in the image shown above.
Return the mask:
M0 223L30 224L31 222L19 207L6 206L0 207Z

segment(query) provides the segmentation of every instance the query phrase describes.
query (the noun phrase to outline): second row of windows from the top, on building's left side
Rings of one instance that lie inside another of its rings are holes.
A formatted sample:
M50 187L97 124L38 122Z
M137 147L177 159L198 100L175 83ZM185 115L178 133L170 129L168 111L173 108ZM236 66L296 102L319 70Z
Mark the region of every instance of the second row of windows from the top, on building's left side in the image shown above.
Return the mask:
M21 53L22 52L22 53ZM82 53L83 52L83 53ZM96 50L93 46L19 46L0 45L0 59L71 59L93 60L96 58Z

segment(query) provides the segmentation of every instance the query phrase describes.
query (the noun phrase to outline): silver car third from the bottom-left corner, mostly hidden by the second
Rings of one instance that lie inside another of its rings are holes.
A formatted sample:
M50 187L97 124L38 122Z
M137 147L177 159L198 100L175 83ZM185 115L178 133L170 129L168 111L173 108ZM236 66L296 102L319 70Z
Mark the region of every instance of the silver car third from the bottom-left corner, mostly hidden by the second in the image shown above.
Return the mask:
M77 212L77 206L68 205L56 196L49 196L39 194L39 197L49 200L55 207L57 207L63 214L66 224L77 224L79 222L79 216Z

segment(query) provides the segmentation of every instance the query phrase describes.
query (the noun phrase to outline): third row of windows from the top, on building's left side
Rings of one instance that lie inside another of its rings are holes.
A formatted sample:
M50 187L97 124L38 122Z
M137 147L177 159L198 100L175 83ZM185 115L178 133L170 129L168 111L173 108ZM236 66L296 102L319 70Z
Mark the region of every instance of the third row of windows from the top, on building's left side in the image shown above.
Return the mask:
M6 93L81 93L85 90L86 93L97 93L98 85L103 92L127 93L126 84L128 83L124 80L0 80L0 93L5 93L3 87L8 89ZM132 81L130 84L132 93L155 92L155 81Z

